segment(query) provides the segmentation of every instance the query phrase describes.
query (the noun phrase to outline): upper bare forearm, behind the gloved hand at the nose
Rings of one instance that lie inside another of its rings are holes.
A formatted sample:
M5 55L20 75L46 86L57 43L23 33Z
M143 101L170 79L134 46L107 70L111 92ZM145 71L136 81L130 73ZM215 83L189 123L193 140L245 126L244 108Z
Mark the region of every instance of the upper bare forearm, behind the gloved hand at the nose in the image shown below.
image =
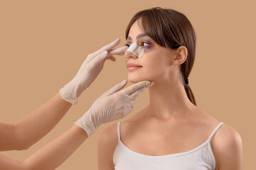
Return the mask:
M0 123L0 151L28 149L50 132L71 106L58 93L17 123Z

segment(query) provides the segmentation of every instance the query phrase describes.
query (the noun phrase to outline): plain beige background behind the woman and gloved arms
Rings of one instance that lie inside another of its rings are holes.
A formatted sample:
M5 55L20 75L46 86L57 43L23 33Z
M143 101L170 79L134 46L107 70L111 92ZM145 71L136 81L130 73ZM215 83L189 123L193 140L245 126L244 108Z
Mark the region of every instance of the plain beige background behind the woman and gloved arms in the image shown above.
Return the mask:
M248 0L0 1L0 121L14 123L52 98L73 79L90 52L115 38L124 45L124 30L134 13L154 6L174 8L191 21L197 50L189 82L198 107L240 133L244 169L253 169L256 6ZM46 137L26 151L1 153L26 159L68 130L96 98L126 78L124 57L107 61L78 105ZM148 102L145 91L127 118ZM97 169L97 137L110 124L102 125L58 169Z

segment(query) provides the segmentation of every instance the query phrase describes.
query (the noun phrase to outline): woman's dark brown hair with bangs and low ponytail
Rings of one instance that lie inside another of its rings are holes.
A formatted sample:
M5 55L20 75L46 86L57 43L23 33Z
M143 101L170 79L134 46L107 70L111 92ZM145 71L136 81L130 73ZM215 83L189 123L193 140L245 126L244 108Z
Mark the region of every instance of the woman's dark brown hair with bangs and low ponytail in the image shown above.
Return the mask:
M183 13L167 8L150 8L139 11L129 22L125 31L125 37L129 35L129 30L135 21L142 21L144 33L152 38L161 47L177 49L185 46L188 50L186 61L181 64L181 74L183 84L189 100L196 105L196 99L185 79L193 67L196 53L196 33L191 22Z

